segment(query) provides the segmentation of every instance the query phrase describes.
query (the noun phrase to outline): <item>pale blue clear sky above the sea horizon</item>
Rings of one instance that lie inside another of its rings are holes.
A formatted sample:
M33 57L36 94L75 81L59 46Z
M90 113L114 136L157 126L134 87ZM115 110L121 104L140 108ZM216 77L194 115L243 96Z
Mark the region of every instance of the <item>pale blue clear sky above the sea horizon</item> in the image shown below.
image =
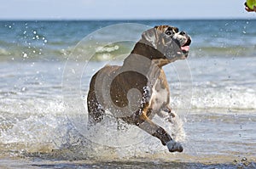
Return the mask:
M256 19L245 0L0 0L0 20Z

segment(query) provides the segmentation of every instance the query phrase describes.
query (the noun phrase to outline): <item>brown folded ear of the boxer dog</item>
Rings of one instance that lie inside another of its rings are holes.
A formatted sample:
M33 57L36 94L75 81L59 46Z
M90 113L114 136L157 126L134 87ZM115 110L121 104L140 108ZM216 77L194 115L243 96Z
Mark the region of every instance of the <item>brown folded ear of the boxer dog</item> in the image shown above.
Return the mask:
M154 28L152 28L152 29L144 31L142 37L143 37L143 42L152 46L155 49L157 48L156 42L157 42L158 37L157 37L157 27L156 26L154 26Z

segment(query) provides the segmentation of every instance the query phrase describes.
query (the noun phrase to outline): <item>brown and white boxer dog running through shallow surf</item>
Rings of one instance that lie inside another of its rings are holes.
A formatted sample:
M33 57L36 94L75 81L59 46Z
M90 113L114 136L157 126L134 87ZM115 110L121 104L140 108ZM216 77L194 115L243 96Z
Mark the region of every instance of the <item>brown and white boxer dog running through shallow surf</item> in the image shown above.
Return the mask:
M92 76L87 98L90 124L101 122L105 110L110 110L117 118L159 138L170 152L182 152L182 145L152 118L155 114L175 118L162 66L186 59L190 43L188 34L170 25L144 31L122 66L106 65Z

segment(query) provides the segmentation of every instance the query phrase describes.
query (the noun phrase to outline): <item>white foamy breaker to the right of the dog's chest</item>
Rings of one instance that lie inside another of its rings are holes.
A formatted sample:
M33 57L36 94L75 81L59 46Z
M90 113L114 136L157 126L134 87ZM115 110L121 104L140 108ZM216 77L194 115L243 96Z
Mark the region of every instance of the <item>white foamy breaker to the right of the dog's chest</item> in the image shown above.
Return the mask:
M194 89L191 105L195 110L256 110L256 91L241 87Z

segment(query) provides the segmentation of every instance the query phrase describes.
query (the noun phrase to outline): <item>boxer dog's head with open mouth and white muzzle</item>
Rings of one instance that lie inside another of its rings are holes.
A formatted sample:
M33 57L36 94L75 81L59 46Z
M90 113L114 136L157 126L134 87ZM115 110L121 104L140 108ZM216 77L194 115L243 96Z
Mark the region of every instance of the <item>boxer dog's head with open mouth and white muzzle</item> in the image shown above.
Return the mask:
M144 31L141 42L158 50L162 54L160 59L170 63L188 57L191 38L185 31L178 31L177 27L158 25Z

